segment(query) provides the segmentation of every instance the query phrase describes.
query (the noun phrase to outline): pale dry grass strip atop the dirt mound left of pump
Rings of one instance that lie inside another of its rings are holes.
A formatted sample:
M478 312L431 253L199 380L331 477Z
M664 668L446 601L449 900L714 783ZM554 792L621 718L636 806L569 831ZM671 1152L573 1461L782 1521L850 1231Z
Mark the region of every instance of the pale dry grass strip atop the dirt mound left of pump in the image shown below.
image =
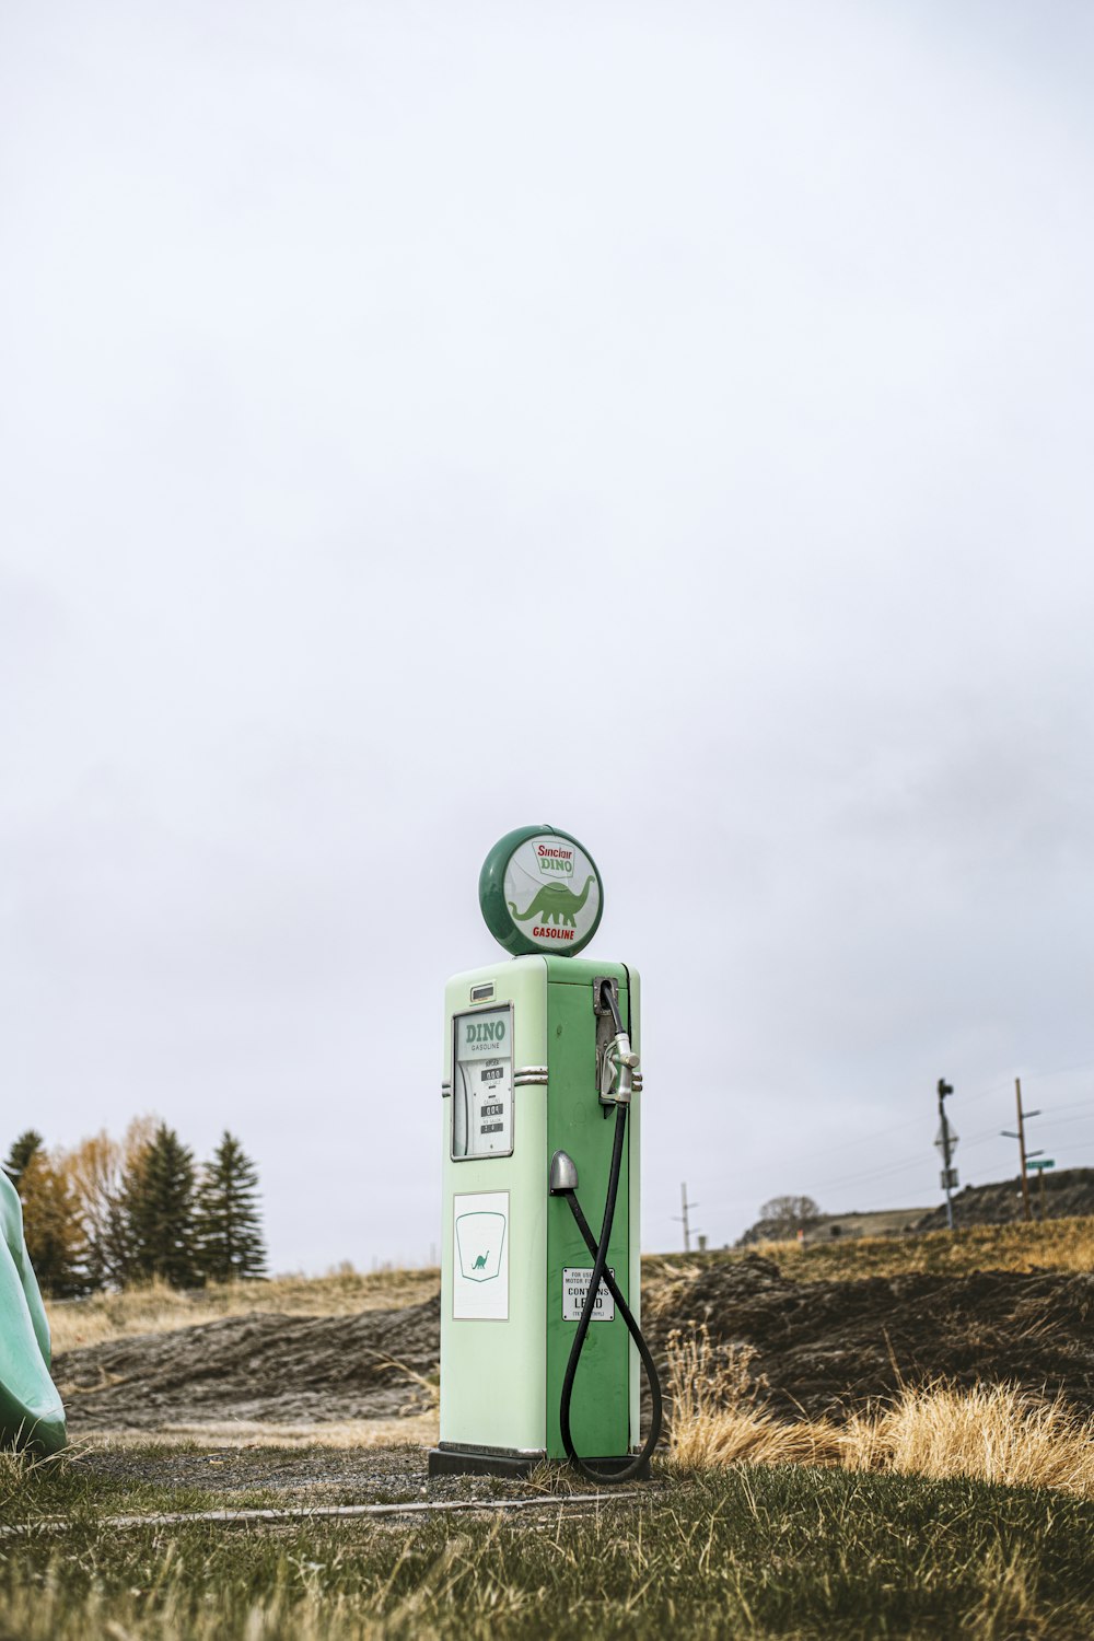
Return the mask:
M399 1310L440 1293L440 1270L374 1270L346 1265L326 1277L272 1277L269 1282L225 1282L180 1293L164 1282L95 1293L89 1300L48 1303L54 1354L131 1334L171 1332L225 1316L356 1316Z

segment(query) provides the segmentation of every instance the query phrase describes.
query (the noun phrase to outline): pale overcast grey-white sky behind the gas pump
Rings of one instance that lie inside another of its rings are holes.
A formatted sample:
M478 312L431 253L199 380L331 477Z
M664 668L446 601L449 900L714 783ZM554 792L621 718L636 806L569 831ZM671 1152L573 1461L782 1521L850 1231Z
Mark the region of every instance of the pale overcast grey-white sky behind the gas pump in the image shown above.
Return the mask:
M1081 0L8 0L0 1147L426 1260L551 822L648 1249L933 1206L940 1075L1094 1163L1092 84Z

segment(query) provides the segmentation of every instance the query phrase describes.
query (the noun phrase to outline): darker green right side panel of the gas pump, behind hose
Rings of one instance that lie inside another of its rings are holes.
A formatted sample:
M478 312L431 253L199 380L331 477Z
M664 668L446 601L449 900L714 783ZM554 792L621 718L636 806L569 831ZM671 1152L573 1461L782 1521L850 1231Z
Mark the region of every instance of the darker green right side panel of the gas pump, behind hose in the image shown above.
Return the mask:
M595 1081L595 1014L592 981L612 976L620 988L620 1011L630 1016L627 970L620 963L587 958L548 958L548 1159L568 1150L577 1163L577 1196L592 1226L600 1232L612 1163L615 1108L604 1108ZM605 1114L607 1111L607 1114ZM628 1124L630 1126L630 1124ZM630 1262L630 1145L623 1168L609 1244L609 1265L627 1301L631 1296ZM563 1321L563 1270L592 1268L592 1255L581 1239L568 1203L548 1201L546 1273L546 1428L548 1456L563 1459L559 1400L576 1321ZM630 1452L630 1336L622 1316L589 1326L571 1403L571 1433L582 1457L609 1459Z

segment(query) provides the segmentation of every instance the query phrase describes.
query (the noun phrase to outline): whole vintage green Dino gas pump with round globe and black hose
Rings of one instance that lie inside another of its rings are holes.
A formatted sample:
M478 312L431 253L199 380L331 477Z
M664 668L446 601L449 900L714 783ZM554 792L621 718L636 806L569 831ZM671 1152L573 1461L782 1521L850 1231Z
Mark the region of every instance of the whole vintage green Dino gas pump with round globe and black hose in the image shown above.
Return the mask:
M444 991L430 1474L523 1474L569 1457L594 1480L625 1480L646 1474L661 1428L638 1326L638 975L579 957L604 889L566 832L508 832L485 858L479 904L510 960ZM645 1446L640 1360L653 1395Z

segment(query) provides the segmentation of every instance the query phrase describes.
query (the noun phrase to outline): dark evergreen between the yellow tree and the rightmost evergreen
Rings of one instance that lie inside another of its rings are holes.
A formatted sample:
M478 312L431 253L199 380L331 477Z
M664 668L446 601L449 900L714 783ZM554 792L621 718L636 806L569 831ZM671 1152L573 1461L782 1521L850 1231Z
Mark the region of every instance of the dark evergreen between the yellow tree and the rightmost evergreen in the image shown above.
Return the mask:
M161 1277L172 1288L197 1287L194 1154L166 1122L133 1159L121 1209L128 1231L126 1278Z

